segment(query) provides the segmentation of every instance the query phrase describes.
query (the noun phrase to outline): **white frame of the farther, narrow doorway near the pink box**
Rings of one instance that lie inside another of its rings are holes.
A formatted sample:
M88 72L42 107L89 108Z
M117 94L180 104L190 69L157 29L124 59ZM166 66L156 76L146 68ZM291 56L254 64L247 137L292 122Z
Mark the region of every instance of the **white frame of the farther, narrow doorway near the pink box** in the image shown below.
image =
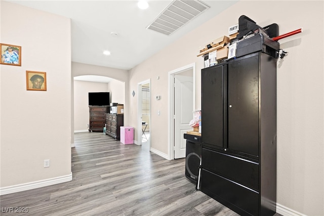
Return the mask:
M140 83L137 83L137 145L142 145L142 85L149 84L150 86L150 95L151 95L151 79L144 80ZM151 96L150 96L151 98ZM151 100L150 100L151 101ZM149 123L150 123L150 130L149 130L149 137L151 137L151 102L150 102L150 115L149 115ZM149 149L151 149L151 138L148 140Z

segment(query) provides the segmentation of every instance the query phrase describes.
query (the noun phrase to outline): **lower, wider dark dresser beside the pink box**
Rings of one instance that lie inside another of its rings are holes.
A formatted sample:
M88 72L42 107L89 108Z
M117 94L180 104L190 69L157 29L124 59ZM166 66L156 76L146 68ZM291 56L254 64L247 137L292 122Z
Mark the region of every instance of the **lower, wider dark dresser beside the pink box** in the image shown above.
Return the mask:
M120 139L120 126L124 126L124 114L106 114L106 134Z

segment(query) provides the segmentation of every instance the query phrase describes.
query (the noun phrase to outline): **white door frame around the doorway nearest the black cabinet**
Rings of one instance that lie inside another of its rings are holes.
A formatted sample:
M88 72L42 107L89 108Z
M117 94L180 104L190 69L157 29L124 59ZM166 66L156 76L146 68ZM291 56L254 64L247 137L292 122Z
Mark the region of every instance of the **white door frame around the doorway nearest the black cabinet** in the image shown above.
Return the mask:
M173 87L173 80L174 76L182 71L192 69L192 91L193 91L193 104L192 104L192 111L195 110L196 104L196 63L191 63L186 66L180 67L178 69L172 70L169 72L168 75L168 98L169 98L169 107L168 107L168 160L174 160L174 116L173 116L173 108L174 108L174 87Z

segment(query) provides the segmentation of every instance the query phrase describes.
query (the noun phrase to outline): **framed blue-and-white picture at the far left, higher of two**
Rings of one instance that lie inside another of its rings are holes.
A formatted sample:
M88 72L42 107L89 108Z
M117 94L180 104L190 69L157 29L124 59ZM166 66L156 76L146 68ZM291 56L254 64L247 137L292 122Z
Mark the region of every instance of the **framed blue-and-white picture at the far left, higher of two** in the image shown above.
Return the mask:
M1 45L1 64L21 66L21 47L10 44Z

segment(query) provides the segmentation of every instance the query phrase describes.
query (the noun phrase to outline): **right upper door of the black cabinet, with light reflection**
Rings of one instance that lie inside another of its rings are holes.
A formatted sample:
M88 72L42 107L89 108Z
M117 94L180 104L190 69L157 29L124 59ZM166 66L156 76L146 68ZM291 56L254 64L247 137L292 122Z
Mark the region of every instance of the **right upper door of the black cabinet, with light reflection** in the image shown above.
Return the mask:
M258 156L259 56L229 63L227 85L227 148Z

